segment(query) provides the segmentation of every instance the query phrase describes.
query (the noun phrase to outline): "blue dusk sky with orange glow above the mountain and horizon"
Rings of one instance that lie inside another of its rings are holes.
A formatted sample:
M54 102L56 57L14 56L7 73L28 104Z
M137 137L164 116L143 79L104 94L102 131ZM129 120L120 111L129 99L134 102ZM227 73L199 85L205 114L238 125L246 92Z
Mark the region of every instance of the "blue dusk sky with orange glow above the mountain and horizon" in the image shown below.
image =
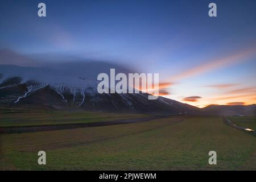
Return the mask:
M40 18L38 3L46 3ZM217 17L208 5L217 5ZM0 1L0 49L159 73L164 97L256 104L256 1ZM72 61L72 60L71 60Z

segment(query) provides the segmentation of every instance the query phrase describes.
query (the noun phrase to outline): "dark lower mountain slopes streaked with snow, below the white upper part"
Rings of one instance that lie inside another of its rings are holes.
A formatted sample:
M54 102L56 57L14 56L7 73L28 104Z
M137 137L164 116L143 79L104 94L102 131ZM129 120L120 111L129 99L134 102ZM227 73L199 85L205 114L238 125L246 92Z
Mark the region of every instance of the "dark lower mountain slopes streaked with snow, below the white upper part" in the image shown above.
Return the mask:
M9 78L13 80L13 78ZM175 100L159 97L148 100L147 93L139 94L99 94L96 86L68 86L39 84L27 81L0 88L0 104L40 105L53 108L79 106L91 111L123 111L138 113L192 114L199 111Z

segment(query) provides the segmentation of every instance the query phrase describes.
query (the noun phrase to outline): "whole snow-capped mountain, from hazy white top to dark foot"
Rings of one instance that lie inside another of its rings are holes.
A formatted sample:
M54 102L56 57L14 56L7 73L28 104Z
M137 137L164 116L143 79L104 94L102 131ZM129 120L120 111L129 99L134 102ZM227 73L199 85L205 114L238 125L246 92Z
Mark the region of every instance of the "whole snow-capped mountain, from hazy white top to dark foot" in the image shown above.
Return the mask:
M79 107L90 111L137 113L195 114L200 111L197 107L164 97L148 100L148 94L142 92L99 94L97 80L91 78L92 75L97 74L92 72L92 68L98 70L96 69L98 64L90 63L89 74L74 72L73 70L77 68L76 64L42 69L0 65L0 104L43 106L55 109ZM82 64L79 64L79 67L82 67ZM68 68L72 74L68 74ZM105 65L105 70L102 69L101 72L107 72L108 69Z

